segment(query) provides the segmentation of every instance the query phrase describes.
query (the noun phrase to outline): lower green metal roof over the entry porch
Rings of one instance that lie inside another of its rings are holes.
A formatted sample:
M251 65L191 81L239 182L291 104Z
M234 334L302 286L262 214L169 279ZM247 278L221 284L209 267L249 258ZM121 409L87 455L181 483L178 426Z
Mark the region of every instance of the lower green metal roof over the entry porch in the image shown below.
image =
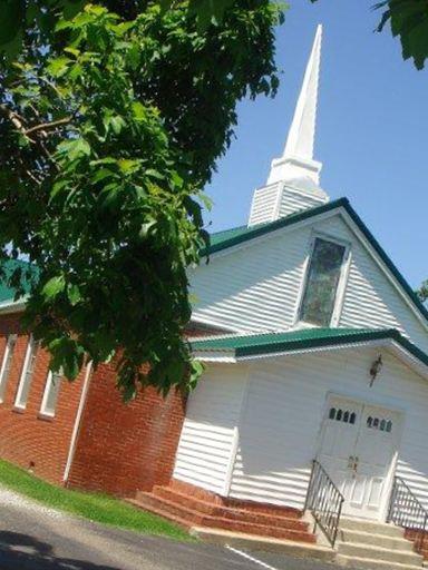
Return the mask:
M382 340L396 341L428 366L428 354L405 338L397 328L301 328L299 331L201 338L193 341L191 346L194 352L232 352L239 358L240 356L254 356Z

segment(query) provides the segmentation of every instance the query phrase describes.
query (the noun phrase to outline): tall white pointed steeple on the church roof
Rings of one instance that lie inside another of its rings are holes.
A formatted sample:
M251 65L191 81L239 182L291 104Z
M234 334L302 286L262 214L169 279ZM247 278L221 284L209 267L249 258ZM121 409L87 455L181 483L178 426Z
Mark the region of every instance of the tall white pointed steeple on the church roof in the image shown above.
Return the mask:
M319 24L284 153L272 160L266 186L254 193L249 225L271 222L329 199L319 187L322 165L313 159L321 39Z

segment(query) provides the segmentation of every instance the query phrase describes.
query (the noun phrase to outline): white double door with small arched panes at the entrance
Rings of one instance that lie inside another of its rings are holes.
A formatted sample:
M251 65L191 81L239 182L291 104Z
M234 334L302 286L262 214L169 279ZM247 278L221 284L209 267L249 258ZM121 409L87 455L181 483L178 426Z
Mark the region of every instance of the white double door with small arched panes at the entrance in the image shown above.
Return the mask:
M344 497L343 513L382 520L400 414L334 396L329 401L318 460Z

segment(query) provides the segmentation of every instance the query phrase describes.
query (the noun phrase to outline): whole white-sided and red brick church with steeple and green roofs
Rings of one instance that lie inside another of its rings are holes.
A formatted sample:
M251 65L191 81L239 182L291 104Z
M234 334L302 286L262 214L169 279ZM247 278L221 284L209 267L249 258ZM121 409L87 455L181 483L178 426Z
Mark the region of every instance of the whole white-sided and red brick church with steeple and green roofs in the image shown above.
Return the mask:
M321 37L247 224L214 234L189 272L196 390L125 406L108 365L54 382L4 293L0 455L206 540L411 570L428 557L428 312L321 186Z

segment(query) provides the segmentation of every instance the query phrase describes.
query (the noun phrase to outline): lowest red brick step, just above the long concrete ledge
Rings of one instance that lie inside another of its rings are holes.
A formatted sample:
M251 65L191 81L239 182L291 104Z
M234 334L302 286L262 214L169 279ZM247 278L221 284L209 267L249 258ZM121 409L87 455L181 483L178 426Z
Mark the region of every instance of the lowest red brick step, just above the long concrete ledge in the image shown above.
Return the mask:
M200 525L208 527L212 529L224 529L234 532L244 532L249 534L257 534L261 537L273 537L278 539L295 540L300 542L315 542L315 537L308 532L308 527L304 530L295 530L293 528L278 528L270 524L260 524L245 521L235 521L222 517L213 517L204 514L173 501L162 499L153 493L138 493L138 499L130 500L130 502L142 509L160 514L166 519L181 521L187 527ZM292 523L296 521L292 520ZM303 521L302 521L303 522ZM303 523L305 524L305 523Z

